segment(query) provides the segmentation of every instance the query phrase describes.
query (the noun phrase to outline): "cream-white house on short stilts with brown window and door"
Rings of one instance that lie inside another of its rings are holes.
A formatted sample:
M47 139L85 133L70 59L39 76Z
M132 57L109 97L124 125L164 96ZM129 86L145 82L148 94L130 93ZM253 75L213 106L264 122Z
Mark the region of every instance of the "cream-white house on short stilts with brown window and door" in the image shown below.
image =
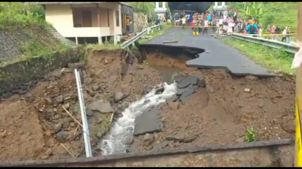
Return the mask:
M97 42L122 35L121 5L124 2L26 2L43 5L45 19L65 38ZM112 39L111 39L112 40Z

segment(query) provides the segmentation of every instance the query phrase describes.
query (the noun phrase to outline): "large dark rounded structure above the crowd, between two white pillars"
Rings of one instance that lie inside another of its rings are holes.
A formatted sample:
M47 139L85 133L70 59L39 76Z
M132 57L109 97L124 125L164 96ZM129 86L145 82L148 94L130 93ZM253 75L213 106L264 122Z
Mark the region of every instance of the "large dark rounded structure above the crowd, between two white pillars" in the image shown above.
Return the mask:
M170 11L206 12L213 2L168 2Z

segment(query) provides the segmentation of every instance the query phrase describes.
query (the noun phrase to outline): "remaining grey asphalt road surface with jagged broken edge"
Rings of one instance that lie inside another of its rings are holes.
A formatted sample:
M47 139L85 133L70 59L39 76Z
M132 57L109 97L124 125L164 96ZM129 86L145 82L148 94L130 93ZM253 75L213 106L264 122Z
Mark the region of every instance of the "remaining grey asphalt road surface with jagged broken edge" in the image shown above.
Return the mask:
M254 61L243 55L239 50L223 44L223 42L210 36L214 32L209 29L208 35L193 36L191 28L182 29L181 27L172 27L166 34L157 36L143 44L154 45L172 45L189 46L203 48L207 52L199 54L199 57L187 61L188 67L197 67L201 69L226 69L236 75L255 75L255 76L275 76L275 73L257 65ZM164 44L163 41L178 40L177 43Z

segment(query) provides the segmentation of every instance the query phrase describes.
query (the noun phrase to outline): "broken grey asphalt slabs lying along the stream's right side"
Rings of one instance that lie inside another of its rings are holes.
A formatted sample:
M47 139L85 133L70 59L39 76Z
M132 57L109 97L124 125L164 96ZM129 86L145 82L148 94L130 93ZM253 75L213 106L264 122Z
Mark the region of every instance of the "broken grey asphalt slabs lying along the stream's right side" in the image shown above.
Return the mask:
M206 83L203 78L198 78L194 75L178 75L174 77L175 82L177 82L177 93L171 98L166 100L166 103L172 110L177 110L181 104L190 98L192 94L195 93L196 88L204 88ZM156 90L156 93L163 92L163 88ZM175 135L160 137L158 132L165 131L165 120L159 118L158 109L159 108L150 107L146 109L142 115L135 119L134 136L137 145L133 145L134 149L153 149L159 150L166 146L177 146L180 143L188 143L197 139L198 136L187 135L185 133L175 133ZM143 135L143 136L140 136ZM133 138L132 136L129 136ZM127 142L133 143L133 142Z

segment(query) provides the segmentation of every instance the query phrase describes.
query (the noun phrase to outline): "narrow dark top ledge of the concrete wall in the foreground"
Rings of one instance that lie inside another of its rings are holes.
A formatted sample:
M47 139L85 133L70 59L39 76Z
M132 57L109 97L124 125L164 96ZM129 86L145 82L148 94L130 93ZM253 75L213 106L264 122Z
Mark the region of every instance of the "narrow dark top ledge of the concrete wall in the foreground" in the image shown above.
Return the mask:
M73 166L73 165L94 165L108 164L115 161L133 159L133 158L150 158L166 155L197 153L197 152L212 152L219 150L236 150L236 149L252 149L294 145L294 139L280 139L269 141L257 141L252 143L240 144L223 144L213 146L201 146L185 149L169 149L162 151L145 151L145 152L130 152L114 155L102 155L91 158L72 158L63 160L33 160L33 161L15 161L0 163L0 167L56 167L56 166Z

